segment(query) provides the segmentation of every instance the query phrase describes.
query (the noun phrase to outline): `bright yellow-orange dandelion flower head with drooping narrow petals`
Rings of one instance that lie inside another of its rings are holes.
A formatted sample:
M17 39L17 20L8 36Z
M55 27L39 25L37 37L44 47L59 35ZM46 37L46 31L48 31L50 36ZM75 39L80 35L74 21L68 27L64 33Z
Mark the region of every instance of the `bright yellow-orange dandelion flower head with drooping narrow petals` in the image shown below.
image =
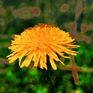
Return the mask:
M49 62L56 70L56 62L64 64L58 55L69 58L69 55L76 55L76 51L71 49L77 47L68 32L52 25L39 24L26 29L21 35L15 35L9 47L12 53L7 57L9 63L19 59L20 67L28 67L33 63L33 67L47 69L47 56L49 56Z

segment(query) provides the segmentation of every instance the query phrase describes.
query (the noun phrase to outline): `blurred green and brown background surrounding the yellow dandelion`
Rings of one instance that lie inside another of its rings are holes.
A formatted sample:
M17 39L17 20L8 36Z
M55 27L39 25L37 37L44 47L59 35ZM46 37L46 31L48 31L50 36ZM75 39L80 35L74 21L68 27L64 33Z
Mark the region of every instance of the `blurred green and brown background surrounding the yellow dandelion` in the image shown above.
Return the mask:
M75 85L67 69L21 69L18 62L8 64L13 35L38 23L58 26L76 39L80 84ZM93 0L0 0L0 93L93 93L92 61Z

